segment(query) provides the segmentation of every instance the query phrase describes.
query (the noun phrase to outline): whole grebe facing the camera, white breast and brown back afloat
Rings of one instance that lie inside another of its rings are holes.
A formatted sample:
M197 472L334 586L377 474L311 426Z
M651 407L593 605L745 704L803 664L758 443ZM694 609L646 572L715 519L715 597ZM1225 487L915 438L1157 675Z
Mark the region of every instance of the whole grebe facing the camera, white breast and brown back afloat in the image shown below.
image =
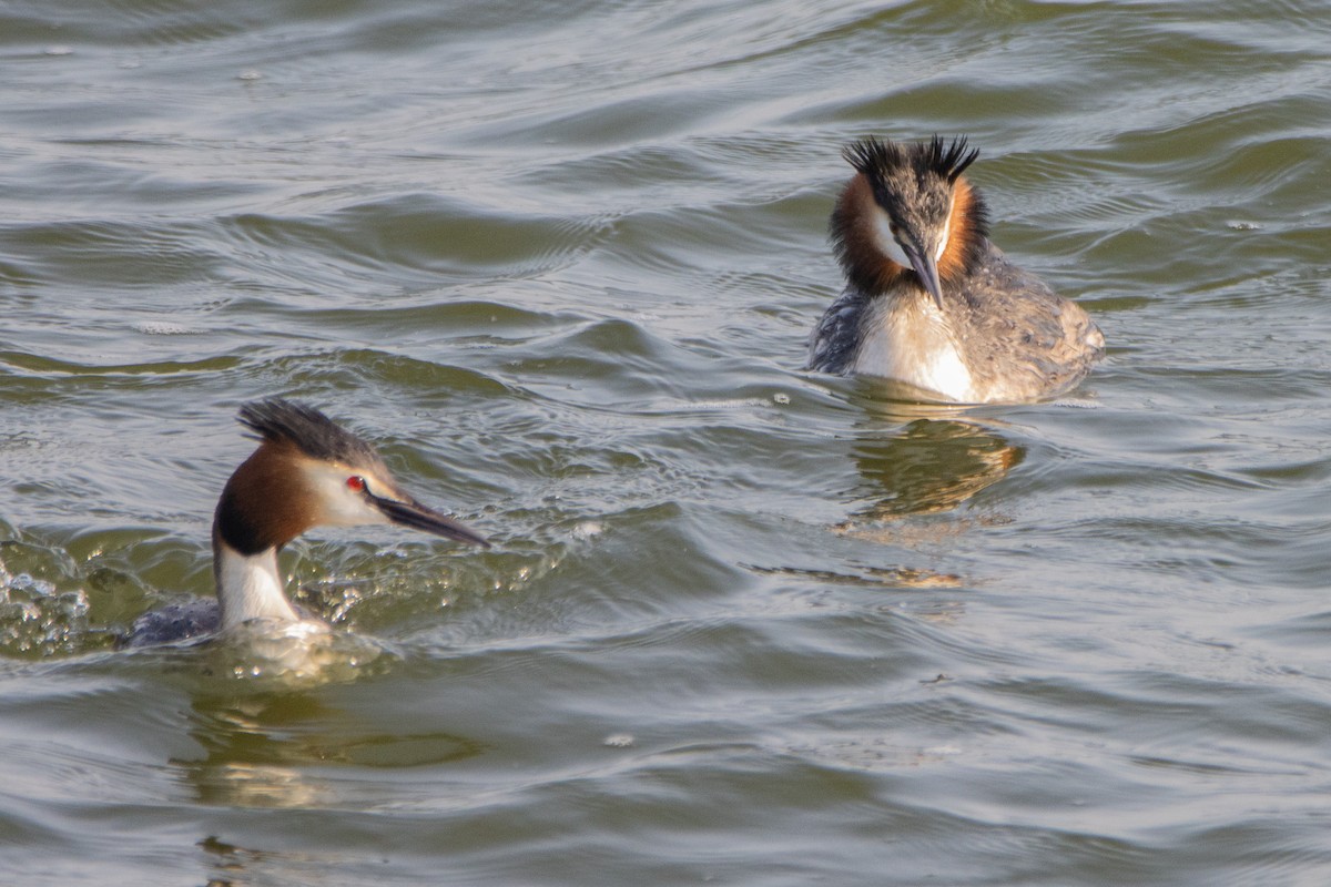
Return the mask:
M885 376L938 400L1013 403L1071 390L1105 352L1079 306L989 242L962 173L980 154L865 138L832 213L845 291L809 339L809 370Z

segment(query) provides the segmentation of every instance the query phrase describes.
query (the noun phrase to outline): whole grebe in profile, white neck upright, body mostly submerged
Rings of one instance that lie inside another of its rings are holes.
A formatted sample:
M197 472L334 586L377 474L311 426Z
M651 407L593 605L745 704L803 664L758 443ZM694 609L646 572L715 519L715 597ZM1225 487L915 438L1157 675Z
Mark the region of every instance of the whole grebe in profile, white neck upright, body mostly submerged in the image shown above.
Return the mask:
M240 423L260 443L222 489L213 519L217 600L146 613L126 644L169 644L249 622L298 622L277 552L314 527L401 524L490 548L483 536L414 500L374 447L313 407L273 398L248 403Z

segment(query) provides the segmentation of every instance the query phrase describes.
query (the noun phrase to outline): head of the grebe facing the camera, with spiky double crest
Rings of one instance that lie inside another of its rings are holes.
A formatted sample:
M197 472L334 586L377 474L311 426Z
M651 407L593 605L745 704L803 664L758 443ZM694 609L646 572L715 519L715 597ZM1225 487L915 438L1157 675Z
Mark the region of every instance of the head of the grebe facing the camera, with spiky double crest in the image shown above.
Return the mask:
M973 266L986 235L978 193L961 177L980 152L952 144L865 138L843 152L855 166L836 211L832 239L852 285L885 291L913 271L942 309L942 279Z

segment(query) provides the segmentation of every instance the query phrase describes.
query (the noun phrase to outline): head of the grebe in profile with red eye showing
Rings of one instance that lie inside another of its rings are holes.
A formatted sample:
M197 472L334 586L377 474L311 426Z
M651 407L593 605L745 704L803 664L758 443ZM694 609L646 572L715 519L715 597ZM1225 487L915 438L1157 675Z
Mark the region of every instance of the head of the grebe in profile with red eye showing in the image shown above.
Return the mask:
M217 504L214 533L241 555L281 548L314 527L401 524L490 544L403 492L374 447L313 407L270 399L241 407L262 442Z

